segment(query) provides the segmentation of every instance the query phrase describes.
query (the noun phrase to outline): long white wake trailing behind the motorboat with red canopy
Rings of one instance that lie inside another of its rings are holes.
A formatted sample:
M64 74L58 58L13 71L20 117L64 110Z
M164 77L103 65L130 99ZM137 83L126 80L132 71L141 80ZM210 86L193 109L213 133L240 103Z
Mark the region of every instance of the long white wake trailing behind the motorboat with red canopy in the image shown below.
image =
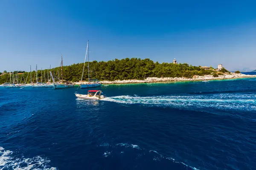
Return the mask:
M174 108L223 108L256 111L256 94L210 94L179 96L113 96L103 100L122 104L163 106Z

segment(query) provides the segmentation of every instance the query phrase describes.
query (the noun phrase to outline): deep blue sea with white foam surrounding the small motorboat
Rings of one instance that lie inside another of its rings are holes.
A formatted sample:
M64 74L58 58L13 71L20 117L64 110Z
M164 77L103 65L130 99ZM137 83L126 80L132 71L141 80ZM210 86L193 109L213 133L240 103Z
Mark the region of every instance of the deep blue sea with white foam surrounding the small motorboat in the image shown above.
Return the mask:
M101 89L0 89L0 169L256 169L256 78Z

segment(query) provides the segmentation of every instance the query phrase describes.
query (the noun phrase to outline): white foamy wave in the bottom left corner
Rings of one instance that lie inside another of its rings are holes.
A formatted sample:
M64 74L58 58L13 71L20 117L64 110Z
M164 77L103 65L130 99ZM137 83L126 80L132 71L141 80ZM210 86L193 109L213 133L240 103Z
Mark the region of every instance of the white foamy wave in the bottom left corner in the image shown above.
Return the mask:
M50 160L44 159L41 156L33 158L15 158L10 150L5 150L0 147L0 169L13 169L13 170L31 170L31 169L44 169L44 170L57 170L55 167L49 166Z

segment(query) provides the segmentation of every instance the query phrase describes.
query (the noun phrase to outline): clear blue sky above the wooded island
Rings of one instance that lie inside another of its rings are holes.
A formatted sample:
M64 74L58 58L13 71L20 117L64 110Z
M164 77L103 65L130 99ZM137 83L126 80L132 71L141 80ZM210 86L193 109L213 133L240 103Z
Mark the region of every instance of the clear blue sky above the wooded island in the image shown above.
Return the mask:
M150 58L256 69L256 1L0 0L0 72Z

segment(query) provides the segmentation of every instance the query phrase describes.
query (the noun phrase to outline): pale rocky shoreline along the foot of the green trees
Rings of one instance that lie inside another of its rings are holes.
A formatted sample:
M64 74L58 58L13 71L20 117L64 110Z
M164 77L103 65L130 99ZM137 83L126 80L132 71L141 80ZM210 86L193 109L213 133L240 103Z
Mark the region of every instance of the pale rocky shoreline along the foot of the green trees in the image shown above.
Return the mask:
M101 81L104 85L109 84L133 84L133 83L154 83L154 82L186 82L186 81L203 81L206 80L221 80L221 79L239 79L239 78L253 78L256 77L256 75L246 75L246 74L224 74L219 75L218 77L213 77L212 75L204 75L204 76L194 76L191 79L185 78L185 77L148 77L144 80L137 80L137 79L130 79L130 80L115 80L115 81L108 81L104 80ZM75 85L80 85L82 82L74 82ZM86 83L86 82L84 82Z

